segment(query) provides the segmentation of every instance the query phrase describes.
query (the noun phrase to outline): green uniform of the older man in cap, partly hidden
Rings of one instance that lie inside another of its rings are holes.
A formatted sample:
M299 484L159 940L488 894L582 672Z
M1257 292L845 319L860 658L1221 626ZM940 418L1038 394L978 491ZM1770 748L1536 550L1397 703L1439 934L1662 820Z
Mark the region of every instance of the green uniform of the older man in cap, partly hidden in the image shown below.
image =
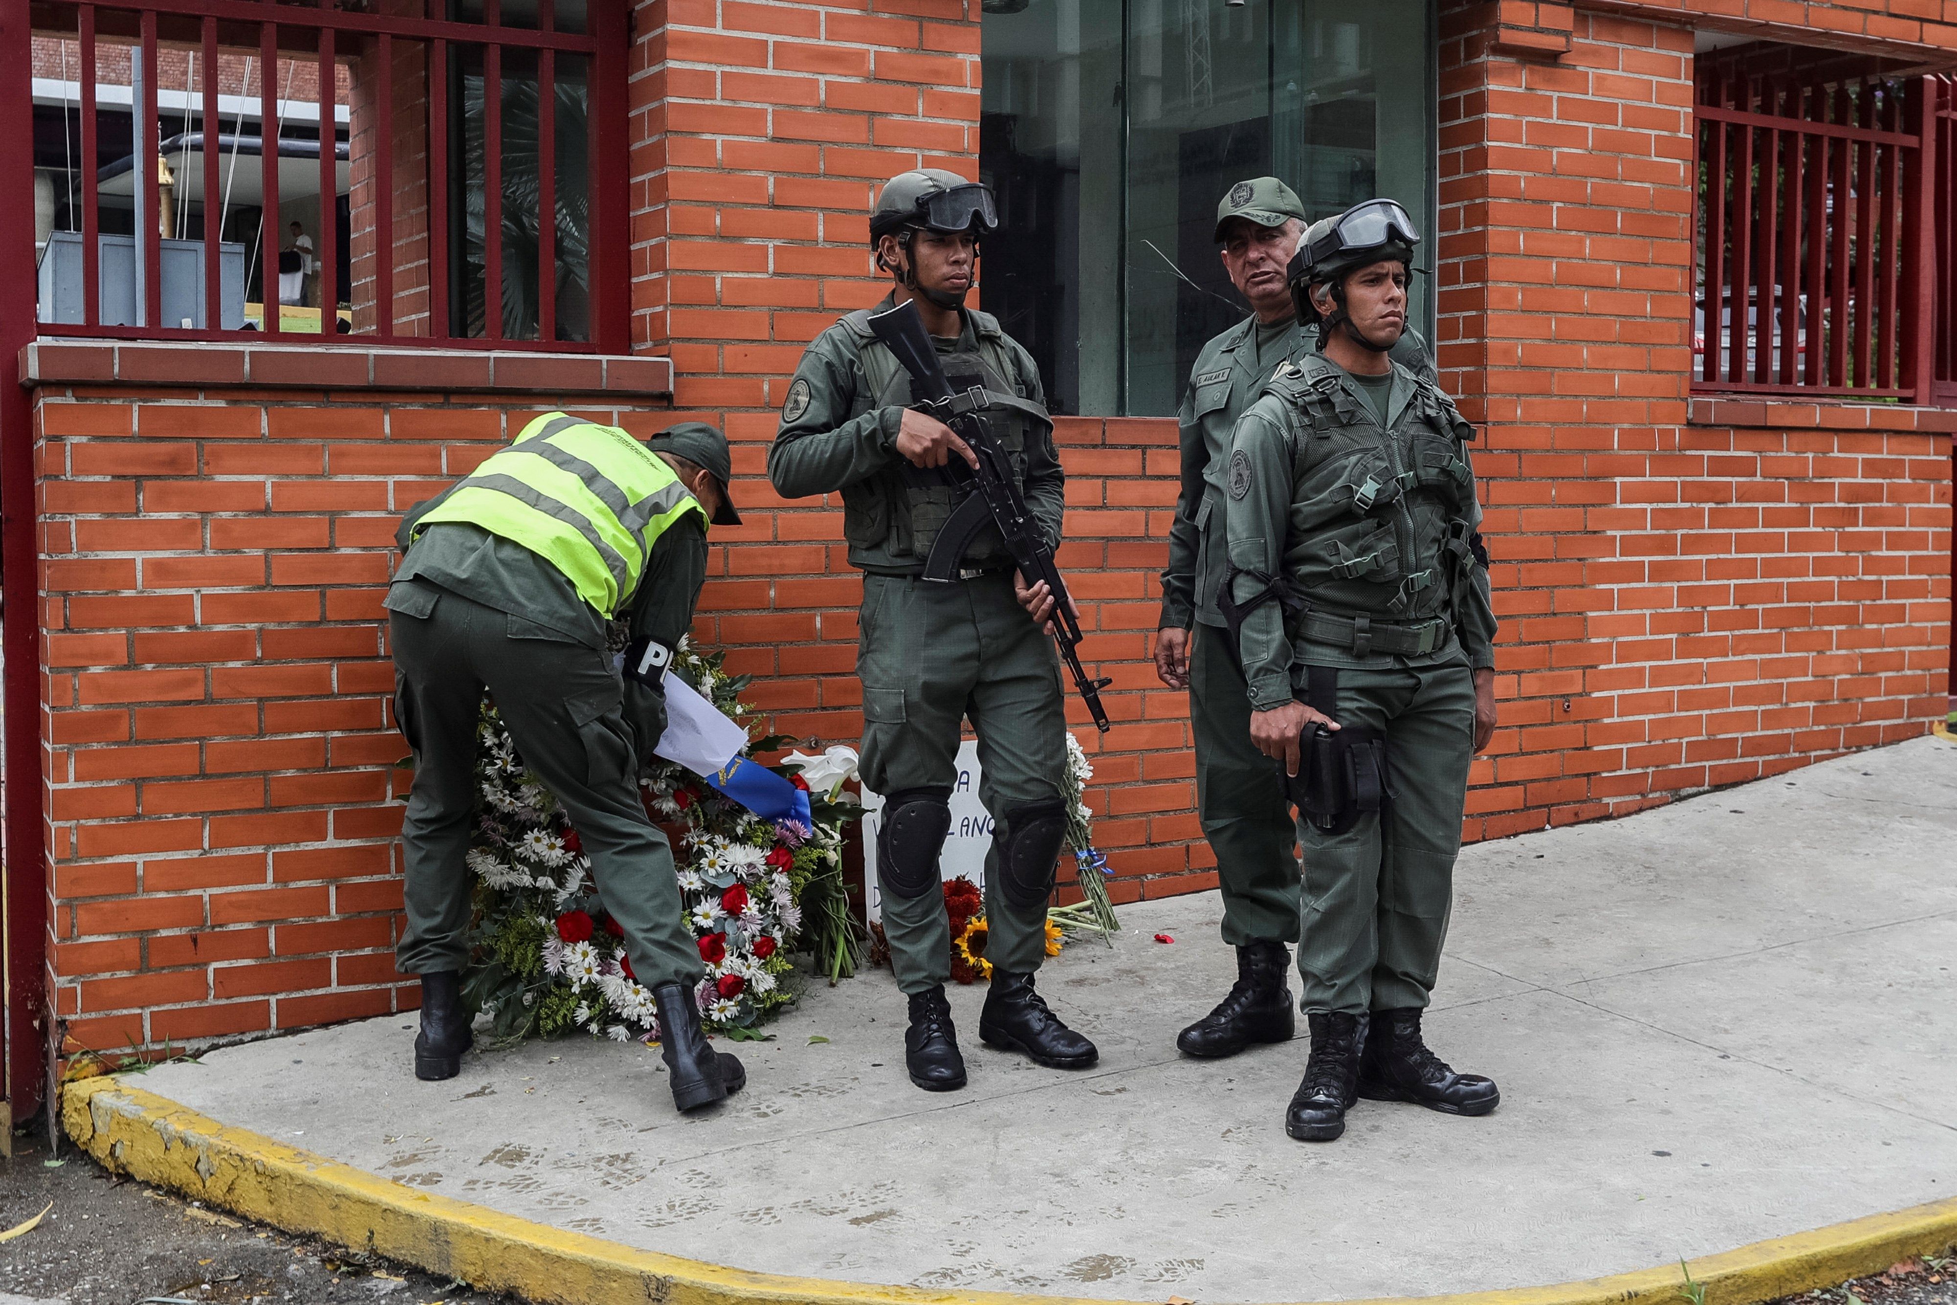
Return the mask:
M1237 419L1284 362L1315 350L1297 319L1247 317L1204 344L1182 395L1182 493L1168 526L1161 628L1190 630L1190 728L1196 736L1196 812L1217 859L1223 941L1297 941L1297 857L1292 806L1270 759L1251 742L1243 663L1217 595L1229 571L1223 538L1229 440ZM1413 331L1393 360L1433 378Z

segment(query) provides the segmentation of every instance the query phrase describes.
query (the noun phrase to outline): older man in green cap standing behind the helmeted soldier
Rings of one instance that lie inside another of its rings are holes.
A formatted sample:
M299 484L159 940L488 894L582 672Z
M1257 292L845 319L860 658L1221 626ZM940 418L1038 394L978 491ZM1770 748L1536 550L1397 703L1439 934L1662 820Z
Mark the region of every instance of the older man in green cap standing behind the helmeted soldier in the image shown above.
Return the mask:
M1297 941L1297 833L1284 783L1251 743L1249 685L1217 597L1229 563L1223 507L1231 430L1270 374L1315 344L1299 331L1286 280L1303 227L1303 205L1274 176L1225 192L1215 241L1251 317L1204 346L1182 397L1182 495L1168 530L1155 669L1164 685L1190 691L1196 806L1223 888L1223 941L1237 949L1235 986L1176 1039L1192 1057L1231 1057L1296 1031L1286 943ZM1393 358L1433 376L1411 331L1393 344Z

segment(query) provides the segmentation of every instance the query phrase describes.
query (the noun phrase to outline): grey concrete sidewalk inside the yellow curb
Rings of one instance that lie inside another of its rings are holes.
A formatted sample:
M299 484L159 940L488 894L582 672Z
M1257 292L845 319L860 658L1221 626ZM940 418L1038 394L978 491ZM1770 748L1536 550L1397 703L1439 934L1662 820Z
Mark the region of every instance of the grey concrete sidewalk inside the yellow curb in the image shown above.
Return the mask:
M474 1053L417 1084L401 1017L139 1084L630 1246L949 1289L1470 1291L1957 1195L1957 747L1939 740L1470 847L1429 1037L1501 1082L1485 1119L1362 1102L1343 1141L1292 1143L1303 1041L1174 1053L1233 976L1215 896L1123 923L1041 982L1102 1047L1086 1074L978 1047L965 988L971 1088L926 1096L902 998L871 972L740 1047L750 1086L710 1117L677 1117L658 1055L614 1043Z

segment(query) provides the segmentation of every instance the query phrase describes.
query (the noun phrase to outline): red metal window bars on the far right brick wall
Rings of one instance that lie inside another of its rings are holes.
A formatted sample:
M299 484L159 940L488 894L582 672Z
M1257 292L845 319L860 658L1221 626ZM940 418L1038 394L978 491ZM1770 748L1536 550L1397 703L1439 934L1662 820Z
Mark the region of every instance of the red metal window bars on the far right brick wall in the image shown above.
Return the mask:
M1949 86L1712 61L1695 112L1693 387L1932 403L1953 303Z

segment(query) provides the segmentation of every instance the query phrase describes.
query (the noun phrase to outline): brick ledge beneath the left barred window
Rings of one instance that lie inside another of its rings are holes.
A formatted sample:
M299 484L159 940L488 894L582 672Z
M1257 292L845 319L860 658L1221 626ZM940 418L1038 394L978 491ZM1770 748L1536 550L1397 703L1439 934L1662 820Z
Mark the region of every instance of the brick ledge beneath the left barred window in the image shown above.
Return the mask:
M20 383L252 389L438 389L669 397L673 360L493 348L331 348L41 337L20 350Z

